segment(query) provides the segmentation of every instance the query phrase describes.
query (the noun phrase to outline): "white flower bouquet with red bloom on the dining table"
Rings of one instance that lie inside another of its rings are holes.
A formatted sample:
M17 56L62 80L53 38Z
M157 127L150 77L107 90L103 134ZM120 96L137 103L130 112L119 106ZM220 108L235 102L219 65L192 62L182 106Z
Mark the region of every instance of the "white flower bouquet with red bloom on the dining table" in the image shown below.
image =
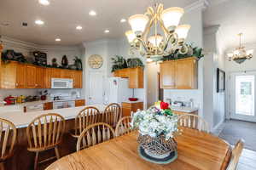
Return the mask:
M131 127L138 128L142 135L152 138L164 135L167 139L173 138L177 133L178 116L164 102L157 102L147 111L137 111L132 115Z

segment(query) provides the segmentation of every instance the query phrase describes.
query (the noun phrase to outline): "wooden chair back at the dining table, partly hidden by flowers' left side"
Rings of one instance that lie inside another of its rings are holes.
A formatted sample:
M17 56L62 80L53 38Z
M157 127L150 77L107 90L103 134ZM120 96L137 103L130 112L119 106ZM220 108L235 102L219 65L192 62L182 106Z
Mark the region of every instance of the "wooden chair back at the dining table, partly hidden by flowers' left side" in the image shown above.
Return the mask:
M126 133L131 133L133 129L131 129L131 116L122 117L115 127L115 135L120 136Z

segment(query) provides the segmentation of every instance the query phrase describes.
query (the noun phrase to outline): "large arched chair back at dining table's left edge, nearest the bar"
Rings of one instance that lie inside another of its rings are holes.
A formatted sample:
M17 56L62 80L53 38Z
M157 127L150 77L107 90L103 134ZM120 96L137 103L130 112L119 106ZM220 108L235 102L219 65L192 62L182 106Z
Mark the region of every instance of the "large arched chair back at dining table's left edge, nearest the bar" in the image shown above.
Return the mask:
M86 127L80 134L77 143L77 151L113 139L114 137L114 130L107 123L98 122L92 124Z

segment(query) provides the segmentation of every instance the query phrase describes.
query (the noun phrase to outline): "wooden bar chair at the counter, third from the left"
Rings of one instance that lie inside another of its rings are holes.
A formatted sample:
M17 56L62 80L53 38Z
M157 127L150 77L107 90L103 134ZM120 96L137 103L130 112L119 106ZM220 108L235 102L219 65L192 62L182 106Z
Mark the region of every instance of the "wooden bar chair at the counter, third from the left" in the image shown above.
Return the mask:
M82 111L79 111L79 114L76 116L74 129L72 129L70 133L75 139L78 139L85 127L96 122L102 122L100 111L93 106L85 107Z

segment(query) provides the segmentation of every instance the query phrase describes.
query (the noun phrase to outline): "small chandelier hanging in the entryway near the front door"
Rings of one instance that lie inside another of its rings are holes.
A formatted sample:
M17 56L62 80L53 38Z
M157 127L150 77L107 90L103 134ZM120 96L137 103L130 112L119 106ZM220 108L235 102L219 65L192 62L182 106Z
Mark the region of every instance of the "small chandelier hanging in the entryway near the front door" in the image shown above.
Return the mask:
M239 36L239 47L233 53L229 53L228 58L229 61L234 60L236 63L241 64L246 59L252 59L253 57L253 49L246 50L245 47L241 46L241 36L242 33L238 34Z

